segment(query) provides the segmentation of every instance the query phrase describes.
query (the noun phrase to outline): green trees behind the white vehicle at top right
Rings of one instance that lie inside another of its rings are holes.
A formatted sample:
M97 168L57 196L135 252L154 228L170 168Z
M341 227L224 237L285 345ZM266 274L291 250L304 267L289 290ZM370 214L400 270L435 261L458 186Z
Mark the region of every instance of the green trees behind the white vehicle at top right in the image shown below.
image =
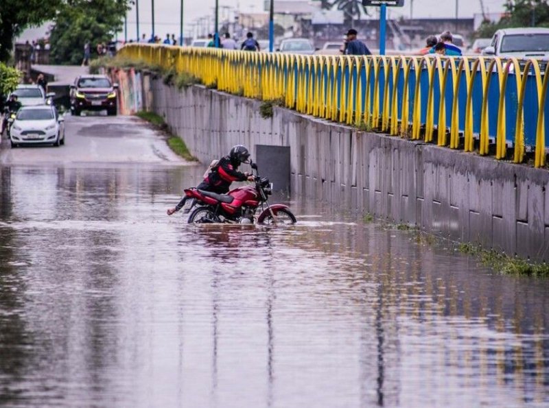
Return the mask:
M549 27L549 0L507 0L505 9L506 14L498 23L484 21L476 38L489 38L502 28Z

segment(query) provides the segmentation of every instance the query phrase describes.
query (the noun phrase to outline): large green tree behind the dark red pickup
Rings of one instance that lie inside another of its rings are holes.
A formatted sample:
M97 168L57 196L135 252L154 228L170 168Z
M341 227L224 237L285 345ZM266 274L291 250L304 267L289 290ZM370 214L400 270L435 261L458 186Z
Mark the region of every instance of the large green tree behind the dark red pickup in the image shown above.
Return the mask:
M50 60L54 64L80 64L84 43L107 44L121 29L127 10L127 0L77 0L63 8L49 35Z

